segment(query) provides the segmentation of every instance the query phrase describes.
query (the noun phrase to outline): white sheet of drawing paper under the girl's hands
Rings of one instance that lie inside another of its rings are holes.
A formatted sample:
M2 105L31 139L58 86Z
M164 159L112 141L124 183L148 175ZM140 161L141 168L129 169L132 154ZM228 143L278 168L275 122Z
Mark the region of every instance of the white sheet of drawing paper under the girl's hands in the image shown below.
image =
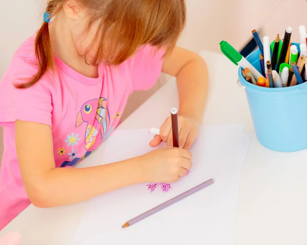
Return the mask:
M227 128L228 127L228 128ZM168 193L146 184L92 198L73 244L234 244L237 199L251 135L232 126L203 127L195 141L191 173L172 184ZM147 129L117 130L107 140L103 164L144 154L152 138ZM131 218L208 179L214 184L122 229ZM207 242L207 243L206 243Z

